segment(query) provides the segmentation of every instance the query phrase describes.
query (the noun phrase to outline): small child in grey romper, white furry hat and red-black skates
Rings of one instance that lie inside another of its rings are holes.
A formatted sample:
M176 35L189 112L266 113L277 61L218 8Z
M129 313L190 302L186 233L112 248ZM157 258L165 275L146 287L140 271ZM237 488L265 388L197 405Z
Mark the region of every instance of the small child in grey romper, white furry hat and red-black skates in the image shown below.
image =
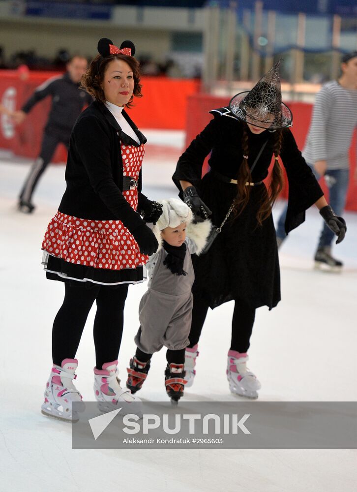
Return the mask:
M184 360L189 344L194 281L191 254L200 254L211 224L209 220L193 223L191 209L177 198L160 203L162 215L153 226L159 249L147 264L148 290L140 301L140 328L134 338L137 349L127 369L126 387L132 393L141 389L152 354L165 345L166 392L177 403L187 382Z

